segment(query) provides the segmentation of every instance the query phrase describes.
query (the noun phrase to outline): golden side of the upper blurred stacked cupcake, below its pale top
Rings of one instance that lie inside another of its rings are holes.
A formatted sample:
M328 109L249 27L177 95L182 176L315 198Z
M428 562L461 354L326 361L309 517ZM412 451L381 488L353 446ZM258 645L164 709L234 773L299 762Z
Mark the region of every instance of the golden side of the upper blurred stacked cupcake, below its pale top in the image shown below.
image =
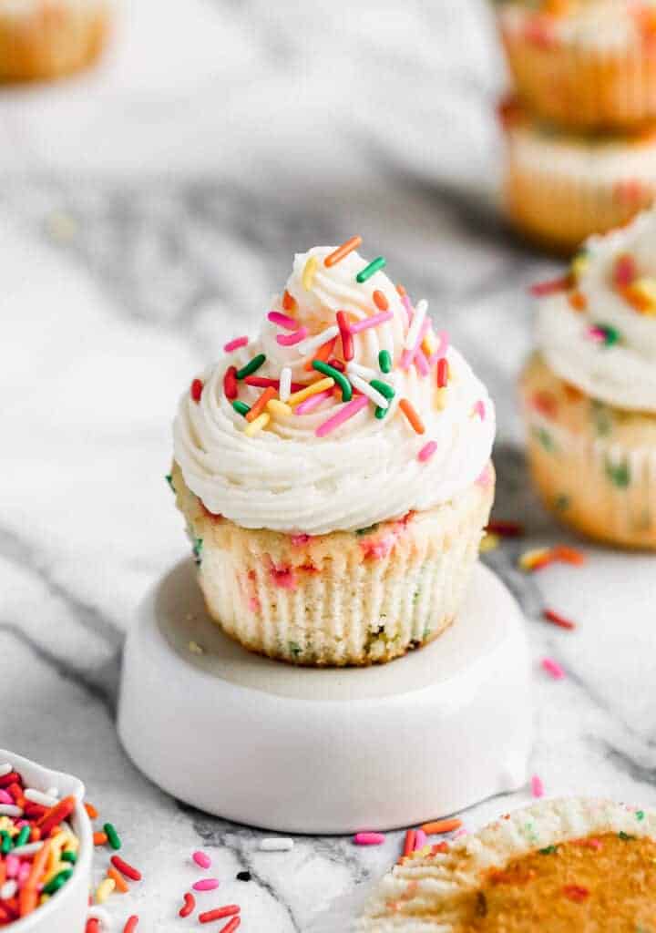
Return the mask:
M517 93L538 117L573 130L626 131L656 119L653 27L634 22L625 41L593 41L590 30L579 41L559 35L556 17L501 4L499 29Z

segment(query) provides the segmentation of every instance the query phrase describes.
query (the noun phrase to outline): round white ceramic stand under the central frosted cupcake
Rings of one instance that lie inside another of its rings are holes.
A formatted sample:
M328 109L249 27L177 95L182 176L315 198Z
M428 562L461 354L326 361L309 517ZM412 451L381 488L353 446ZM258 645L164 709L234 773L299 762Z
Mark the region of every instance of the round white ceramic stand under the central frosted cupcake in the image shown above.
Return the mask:
M431 645L317 670L231 642L185 562L128 637L119 735L141 771L209 813L286 832L392 829L523 785L529 681L518 606L482 566Z

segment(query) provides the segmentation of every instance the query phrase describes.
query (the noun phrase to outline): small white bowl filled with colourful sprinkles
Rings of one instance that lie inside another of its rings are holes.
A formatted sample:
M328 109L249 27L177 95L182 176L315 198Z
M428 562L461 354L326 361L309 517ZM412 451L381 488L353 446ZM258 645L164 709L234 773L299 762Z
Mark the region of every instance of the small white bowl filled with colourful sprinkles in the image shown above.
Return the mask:
M0 927L82 933L91 823L75 777L0 749Z

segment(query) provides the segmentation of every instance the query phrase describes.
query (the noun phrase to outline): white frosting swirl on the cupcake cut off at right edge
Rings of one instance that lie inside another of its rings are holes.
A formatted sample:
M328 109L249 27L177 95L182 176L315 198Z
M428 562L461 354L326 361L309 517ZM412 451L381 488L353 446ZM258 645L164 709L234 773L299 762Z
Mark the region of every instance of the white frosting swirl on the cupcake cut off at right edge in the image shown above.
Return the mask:
M639 313L614 285L618 257L635 260L638 278L656 279L656 212L623 230L593 237L578 276L586 300L575 310L565 293L541 299L537 342L551 369L588 395L636 411L656 411L656 316ZM591 328L612 327L617 343L593 339Z

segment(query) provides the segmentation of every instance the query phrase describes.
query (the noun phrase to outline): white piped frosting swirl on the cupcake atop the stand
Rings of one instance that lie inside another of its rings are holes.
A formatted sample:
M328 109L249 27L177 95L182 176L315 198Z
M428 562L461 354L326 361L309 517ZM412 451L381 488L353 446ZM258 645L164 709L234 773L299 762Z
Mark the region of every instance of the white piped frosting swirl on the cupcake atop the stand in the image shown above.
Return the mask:
M347 313L351 321L380 313L372 295L375 290L382 292L391 320L354 335L355 360L375 369L376 377L391 384L396 396L383 419L374 416L375 406L368 403L326 437L317 437L315 431L342 410L339 397L330 397L304 414L272 416L265 430L246 437L244 417L223 392L231 365L239 369L263 353L267 359L258 376L277 379L286 366L292 367L297 383L309 383L316 376L304 366L314 354L301 355L297 346L281 346L276 336L287 331L265 319L256 340L225 355L204 373L199 402L184 394L174 423L174 456L188 488L211 512L245 528L318 535L352 531L433 508L477 480L491 453L494 407L463 357L453 348L448 351L451 376L443 408L434 367L426 376L413 365L409 369L395 365L393 372L381 374L381 350L389 351L398 364L409 327L407 312L384 272L358 284L356 273L366 260L354 252L327 268L323 259L330 252L329 247L315 247L296 256L286 289L297 307L289 313L314 335L334 325L338 311ZM303 270L310 257L317 259L318 268L306 290ZM274 300L272 308L283 310L282 297ZM249 405L262 391L243 381L239 388L239 397ZM399 411L401 398L409 399L419 413L424 434L416 434ZM418 453L429 441L435 441L437 449L421 461Z

